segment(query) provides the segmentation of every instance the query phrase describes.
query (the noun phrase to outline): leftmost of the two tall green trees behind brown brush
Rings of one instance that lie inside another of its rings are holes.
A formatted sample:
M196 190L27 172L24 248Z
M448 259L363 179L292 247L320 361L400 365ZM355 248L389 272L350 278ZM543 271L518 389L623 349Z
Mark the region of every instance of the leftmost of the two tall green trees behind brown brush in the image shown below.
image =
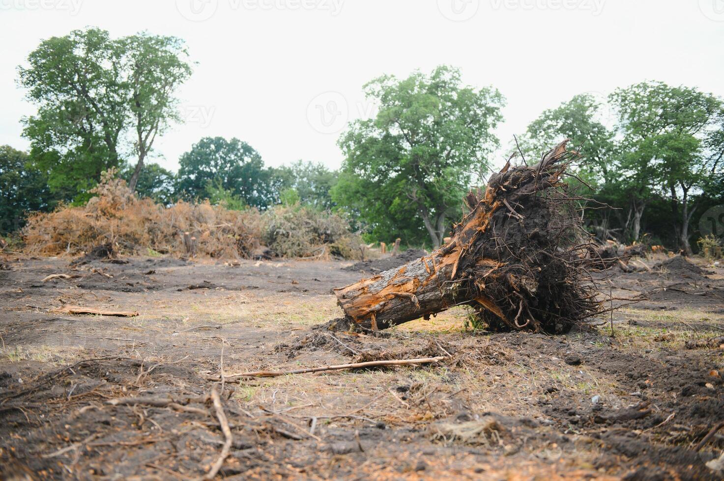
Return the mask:
M118 166L127 106L120 52L104 30L75 30L43 41L20 67L20 85L38 113L25 119L30 156L68 200L89 190L101 171Z

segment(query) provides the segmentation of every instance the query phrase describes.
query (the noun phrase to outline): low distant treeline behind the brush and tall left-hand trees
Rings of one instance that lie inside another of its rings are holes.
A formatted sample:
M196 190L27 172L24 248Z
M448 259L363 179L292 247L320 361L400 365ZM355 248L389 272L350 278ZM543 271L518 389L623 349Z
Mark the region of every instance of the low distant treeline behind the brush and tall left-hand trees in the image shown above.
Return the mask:
M211 205L230 210L266 210L273 205L331 210L335 205L330 191L337 183L337 171L305 161L266 167L256 150L235 138L204 137L179 163L177 173L147 163L138 176L136 195L167 207L180 200L209 200ZM130 183L133 167L119 162L119 168L119 177ZM57 169L46 172L38 168L28 153L0 146L0 234L21 229L29 213L49 212L59 205L84 205L95 195L91 191L98 182L86 183L89 190L72 184L54 189L51 179L56 174Z

